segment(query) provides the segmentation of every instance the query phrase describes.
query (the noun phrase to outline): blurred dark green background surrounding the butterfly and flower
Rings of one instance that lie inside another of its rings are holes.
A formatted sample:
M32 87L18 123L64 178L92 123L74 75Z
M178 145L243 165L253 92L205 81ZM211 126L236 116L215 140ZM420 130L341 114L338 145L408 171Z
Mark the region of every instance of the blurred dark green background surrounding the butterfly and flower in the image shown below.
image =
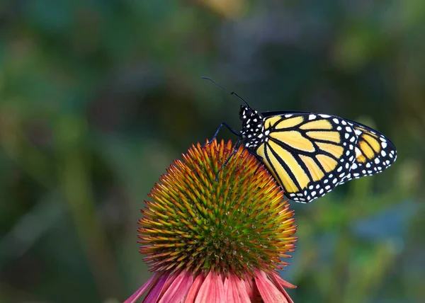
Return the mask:
M425 302L425 2L0 2L0 302L122 302L143 200L239 101L368 124L399 157L296 210L295 302ZM236 139L223 131L220 138Z

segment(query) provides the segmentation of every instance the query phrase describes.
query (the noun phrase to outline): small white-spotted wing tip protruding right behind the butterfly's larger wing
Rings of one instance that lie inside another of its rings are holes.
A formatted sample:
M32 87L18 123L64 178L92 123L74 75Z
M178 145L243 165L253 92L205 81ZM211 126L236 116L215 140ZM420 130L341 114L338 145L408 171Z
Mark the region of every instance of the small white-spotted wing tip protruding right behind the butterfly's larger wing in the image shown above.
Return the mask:
M347 120L353 127L356 136L356 159L351 164L350 173L340 184L353 178L372 176L390 167L397 159L397 150L394 144L380 132L358 122Z

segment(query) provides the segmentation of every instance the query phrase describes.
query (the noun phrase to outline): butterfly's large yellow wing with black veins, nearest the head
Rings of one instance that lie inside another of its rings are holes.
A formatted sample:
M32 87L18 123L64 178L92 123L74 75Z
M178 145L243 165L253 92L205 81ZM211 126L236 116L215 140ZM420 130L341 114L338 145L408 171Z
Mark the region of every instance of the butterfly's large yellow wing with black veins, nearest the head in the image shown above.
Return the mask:
M333 190L350 173L356 132L333 115L302 112L263 114L265 142L256 154L289 198L310 202Z

